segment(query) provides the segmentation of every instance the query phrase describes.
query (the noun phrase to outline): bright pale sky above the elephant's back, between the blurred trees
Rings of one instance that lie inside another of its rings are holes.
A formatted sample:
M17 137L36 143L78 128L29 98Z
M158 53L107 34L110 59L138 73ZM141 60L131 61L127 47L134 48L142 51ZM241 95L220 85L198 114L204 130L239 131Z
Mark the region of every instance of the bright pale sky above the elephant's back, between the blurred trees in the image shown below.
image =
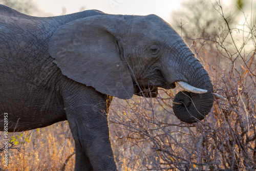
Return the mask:
M78 12L81 7L86 10L97 9L110 14L148 15L156 14L166 21L170 20L174 10L182 10L181 4L188 0L29 0L37 4L44 16L60 15L62 8L67 14Z

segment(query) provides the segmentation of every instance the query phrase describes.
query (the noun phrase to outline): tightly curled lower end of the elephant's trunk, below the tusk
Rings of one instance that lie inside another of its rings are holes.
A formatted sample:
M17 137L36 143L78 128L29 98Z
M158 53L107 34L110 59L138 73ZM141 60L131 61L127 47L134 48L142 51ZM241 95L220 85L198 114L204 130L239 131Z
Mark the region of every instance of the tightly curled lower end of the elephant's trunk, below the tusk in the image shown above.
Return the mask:
M181 91L174 98L173 111L181 121L194 123L209 114L213 101L214 96L211 92L197 94Z

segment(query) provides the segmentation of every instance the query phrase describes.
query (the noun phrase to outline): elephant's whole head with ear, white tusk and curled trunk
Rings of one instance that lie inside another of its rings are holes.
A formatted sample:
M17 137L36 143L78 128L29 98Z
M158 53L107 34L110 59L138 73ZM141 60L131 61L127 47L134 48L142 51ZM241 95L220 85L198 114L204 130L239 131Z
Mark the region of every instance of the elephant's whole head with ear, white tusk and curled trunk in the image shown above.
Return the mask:
M179 92L173 110L184 122L202 120L214 96L208 73L178 33L156 15L98 15L59 27L50 55L67 77L121 99ZM196 90L196 91L193 91ZM199 94L200 93L200 94Z

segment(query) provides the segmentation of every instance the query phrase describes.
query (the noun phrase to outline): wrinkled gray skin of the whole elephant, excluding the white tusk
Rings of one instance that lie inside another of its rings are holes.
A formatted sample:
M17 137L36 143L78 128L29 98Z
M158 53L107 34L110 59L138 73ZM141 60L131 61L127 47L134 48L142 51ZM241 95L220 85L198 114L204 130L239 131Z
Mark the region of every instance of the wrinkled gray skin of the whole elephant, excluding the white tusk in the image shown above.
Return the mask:
M33 17L3 5L0 15L0 130L5 112L9 132L68 120L75 170L116 170L106 115L112 96L156 97L157 87L172 89L184 81L208 92L178 93L179 119L201 120L212 107L207 72L156 15L89 10Z

